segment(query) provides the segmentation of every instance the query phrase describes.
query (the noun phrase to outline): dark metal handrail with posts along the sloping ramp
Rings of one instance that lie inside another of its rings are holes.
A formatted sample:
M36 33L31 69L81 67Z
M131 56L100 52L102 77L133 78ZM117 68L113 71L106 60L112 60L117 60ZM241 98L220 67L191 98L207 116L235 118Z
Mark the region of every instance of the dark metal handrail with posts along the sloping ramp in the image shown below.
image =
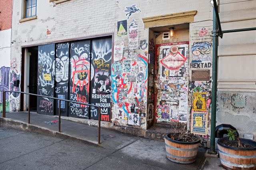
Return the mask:
M13 93L21 93L21 94L28 94L28 123L30 123L30 95L32 96L38 96L38 97L43 97L43 98L50 98L53 100L59 100L59 126L58 126L58 132L60 132L60 101L64 101L64 102L72 102L72 103L76 103L76 104L82 104L82 105L86 105L86 106L92 106L92 107L98 107L99 109L99 117L98 117L98 144L100 144L100 118L101 118L101 108L100 106L96 106L93 104L86 104L86 103L82 103L82 102L75 102L72 100L66 100L66 99L60 99L60 98L54 98L54 97L49 97L49 96L42 96L39 94L33 94L33 93L26 93L26 92L19 92L19 91L5 91L5 90L0 90L0 92L3 92L3 117L5 118L5 93L6 92L13 92Z

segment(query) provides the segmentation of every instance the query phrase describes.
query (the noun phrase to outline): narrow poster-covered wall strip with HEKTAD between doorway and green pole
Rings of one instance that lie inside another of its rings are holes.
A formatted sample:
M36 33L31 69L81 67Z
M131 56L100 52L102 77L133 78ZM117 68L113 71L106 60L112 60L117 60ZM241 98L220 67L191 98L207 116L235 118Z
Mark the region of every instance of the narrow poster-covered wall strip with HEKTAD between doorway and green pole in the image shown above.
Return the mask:
M208 24L212 23L208 22ZM209 138L212 98L212 26L200 26L194 23L190 26L188 89L190 125L188 129L194 134Z

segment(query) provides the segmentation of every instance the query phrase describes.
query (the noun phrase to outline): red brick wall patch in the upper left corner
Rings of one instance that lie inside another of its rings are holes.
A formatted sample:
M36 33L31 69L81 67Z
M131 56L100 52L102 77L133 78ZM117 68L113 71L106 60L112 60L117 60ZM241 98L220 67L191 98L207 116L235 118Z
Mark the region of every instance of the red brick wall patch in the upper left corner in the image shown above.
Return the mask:
M0 31L12 27L12 0L0 1Z

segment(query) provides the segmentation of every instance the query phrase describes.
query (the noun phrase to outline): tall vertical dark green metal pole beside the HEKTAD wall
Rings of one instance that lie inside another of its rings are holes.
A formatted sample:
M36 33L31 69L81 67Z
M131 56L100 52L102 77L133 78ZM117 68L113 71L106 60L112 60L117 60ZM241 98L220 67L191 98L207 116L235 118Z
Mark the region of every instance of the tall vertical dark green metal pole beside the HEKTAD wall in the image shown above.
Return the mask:
M212 112L211 112L211 143L210 154L215 154L215 127L216 127L216 96L217 96L217 66L218 66L218 26L216 14L213 9L213 31L212 31Z

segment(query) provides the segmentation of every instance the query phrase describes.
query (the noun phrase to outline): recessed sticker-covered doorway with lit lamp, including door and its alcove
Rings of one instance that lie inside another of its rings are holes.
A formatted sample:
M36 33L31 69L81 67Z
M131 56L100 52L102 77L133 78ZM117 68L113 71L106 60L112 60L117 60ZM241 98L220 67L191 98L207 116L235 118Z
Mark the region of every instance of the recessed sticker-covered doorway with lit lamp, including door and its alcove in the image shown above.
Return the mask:
M154 68L152 68L154 70L154 104L149 104L148 107L154 108L154 123L164 124L164 126L172 125L174 122L186 123L189 24L152 27L149 37L150 63L154 61ZM151 113L150 109L148 113Z

